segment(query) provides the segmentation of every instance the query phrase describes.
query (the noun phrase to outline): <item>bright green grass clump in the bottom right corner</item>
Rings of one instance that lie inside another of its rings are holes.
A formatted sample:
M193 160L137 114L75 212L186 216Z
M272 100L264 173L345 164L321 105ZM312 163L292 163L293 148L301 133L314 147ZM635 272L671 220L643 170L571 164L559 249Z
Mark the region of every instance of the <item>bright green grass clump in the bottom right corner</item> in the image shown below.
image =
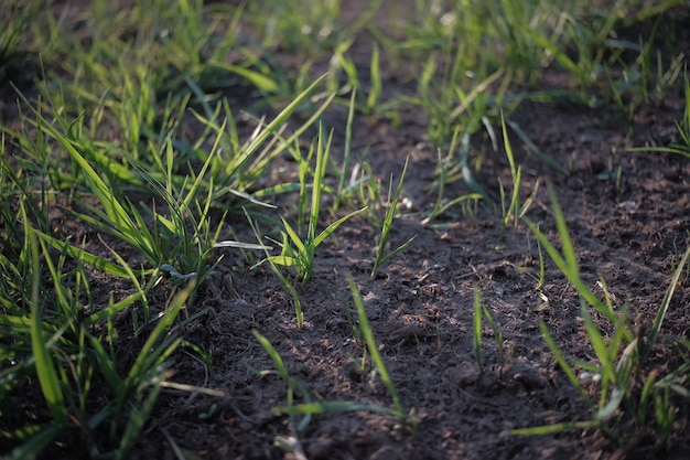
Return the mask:
M602 282L602 286L604 286L605 299L602 301L580 277L575 252L565 226L565 221L556 192L550 185L549 194L561 240L561 252L547 239L536 224L529 221L527 221L527 224L580 296L580 317L583 320L584 332L589 338L597 362L569 360L550 335L543 321L540 323L540 330L549 350L570 382L590 403L593 417L587 421L520 428L504 431L502 435L543 435L547 432L560 432L565 429L604 428L607 421L621 417L629 417L640 430L653 430L659 437L661 445L664 445L672 434L672 422L677 407L669 398L671 386L656 384L655 382L658 378L657 371L648 371L646 364L651 347L657 343L657 338L670 307L678 280L690 260L690 247L687 248L679 266L673 271L671 282L659 306L649 333L642 334L632 327L626 308L621 311L614 309L604 282ZM599 313L607 321L610 332L601 330L601 327L593 319L593 312ZM574 361L574 363L571 364L570 361ZM575 366L584 370L584 372L578 374ZM669 381L679 376L681 376L681 379L687 378L687 363L684 363L679 368L671 371L668 376ZM640 386L637 385L637 379L639 379ZM590 400L589 391L584 387L583 381L595 382L599 388L599 402ZM642 391L639 391L640 387ZM684 388L677 388L676 392L680 395L687 395ZM650 421L653 421L649 417L650 413L653 414L654 427L649 426Z

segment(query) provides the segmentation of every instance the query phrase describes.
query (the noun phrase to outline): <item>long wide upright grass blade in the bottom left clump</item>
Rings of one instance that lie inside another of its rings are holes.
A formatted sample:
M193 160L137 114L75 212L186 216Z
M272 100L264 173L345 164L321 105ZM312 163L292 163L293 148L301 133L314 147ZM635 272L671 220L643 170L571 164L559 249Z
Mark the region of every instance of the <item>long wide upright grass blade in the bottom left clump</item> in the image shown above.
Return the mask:
M28 222L24 216L24 222ZM51 411L51 416L57 426L67 424L67 409L64 395L55 371L52 353L44 338L43 322L41 320L43 302L40 300L41 290L41 263L39 253L39 238L35 231L25 224L25 238L31 249L31 351L35 360L36 376L41 384L41 392Z

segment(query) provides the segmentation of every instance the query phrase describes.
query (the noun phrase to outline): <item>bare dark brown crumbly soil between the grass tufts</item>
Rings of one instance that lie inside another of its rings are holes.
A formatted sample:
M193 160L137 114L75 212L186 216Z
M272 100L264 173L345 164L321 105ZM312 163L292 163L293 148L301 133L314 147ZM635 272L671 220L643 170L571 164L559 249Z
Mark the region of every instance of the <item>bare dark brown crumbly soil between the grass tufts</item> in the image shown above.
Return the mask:
M684 33L679 40L689 50ZM362 49L367 49L366 40L360 38ZM369 61L366 54L358 58L362 65ZM553 86L562 84L557 73L543 79ZM384 87L409 92L400 82L388 73ZM635 426L629 416L614 418L606 434L499 437L506 429L591 417L539 331L543 320L567 355L594 361L579 317L580 300L548 259L545 286L537 288L535 236L525 224L502 235L502 216L493 208L479 205L472 213L451 208L435 222L445 224L442 229L420 224L434 200L428 188L436 151L424 139L419 110L403 108L401 114L402 127L382 117L356 117L353 153L366 152L384 180L390 173L398 175L410 158L403 192L410 205L407 216L393 223L391 244L418 235L414 243L371 279L378 229L364 218L344 224L335 238L320 247L312 280L299 286L306 322L303 330L297 329L290 296L270 269L242 270L239 253L226 250L216 272L187 307L187 313L198 318L183 331L186 340L212 354L213 367L181 349L173 379L222 389L227 396L163 393L132 458L172 459L173 445L190 459L299 458L274 447L277 436L292 434L288 418L271 411L287 405L287 385L276 374L258 373L274 367L254 330L271 341L290 374L314 399L391 407L390 395L370 364L362 366L365 345L355 340L347 321L346 311L354 311L347 272L360 289L402 404L414 408L419 425L416 432L409 432L396 427L398 420L370 411L314 416L300 432L309 459L688 458L690 407L680 400L680 435L668 449L658 446L654 430ZM525 103L511 115L542 151L569 171L545 165L518 138L513 139L524 171L522 199L535 184L540 185L527 217L558 242L548 179L564 211L584 280L596 290L600 277L605 279L618 308L629 306L627 314L642 329L654 320L671 272L690 244L690 161L627 149L666 142L659 133L669 128L672 132L681 116L680 88L656 106L643 106L630 133L613 107ZM345 120L346 109L328 113L335 156L343 150ZM477 181L498 199L497 178L510 183L505 153L494 151L488 139L477 136L472 156L483 158ZM453 197L468 189L459 181L445 193ZM331 218L324 216L324 222ZM240 239L252 239L244 216L231 217L229 223L236 225ZM91 244L89 250L97 250L97 239ZM475 286L505 338L498 350L485 323L483 372L472 345ZM104 282L103 289L107 296L112 286ZM597 292L603 296L601 289ZM164 300L165 292L160 296ZM686 277L671 302L664 335L687 336L689 308ZM605 322L601 325L610 330ZM127 353L122 359L127 360ZM677 360L677 351L661 344L649 368L672 368ZM591 389L595 394L596 388ZM55 447L46 458L68 458L74 452L66 445Z

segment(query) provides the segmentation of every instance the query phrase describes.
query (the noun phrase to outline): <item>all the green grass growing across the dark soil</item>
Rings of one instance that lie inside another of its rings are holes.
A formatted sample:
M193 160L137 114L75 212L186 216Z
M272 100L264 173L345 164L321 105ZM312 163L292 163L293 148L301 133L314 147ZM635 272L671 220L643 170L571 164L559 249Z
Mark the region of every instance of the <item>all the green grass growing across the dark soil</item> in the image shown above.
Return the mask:
M535 185L530 196L520 200L522 170L508 129L530 154L559 173L570 172L531 142L510 119L513 110L524 100L591 107L611 103L632 126L637 107L661 100L676 87L686 58L658 51L661 19L650 36L637 42L616 35L619 26L683 6L682 0L416 0L412 17L398 4L390 7L391 30L386 33L373 21L381 0L369 2L348 23L341 14L345 4L337 0L266 0L240 7L202 0L130 3L122 9L117 2L95 0L79 11L51 6L62 8L57 17L43 1L3 3L0 79L18 71L24 52L40 52L43 65L40 96L30 100L20 95L21 118L13 120L19 127L3 124L0 140L0 415L12 416L22 392L42 402L33 421L0 434L15 446L11 458L40 456L55 442L78 445L82 453L95 458L127 458L162 388L204 392L171 382L170 368L183 343L175 325L191 320L182 319L185 303L194 300L218 264L218 248L240 248L242 267L257 265L249 250L263 250L292 297L299 329L304 318L295 280L306 285L316 248L351 217L368 206L366 216L380 228L374 278L405 250L413 238L389 252L387 243L408 162L395 192L391 178L386 194L368 162L369 152L364 149L353 158L357 114L376 122L380 115L400 121L395 113L400 107L411 105L419 111L418 122L439 148L429 189L435 202L424 210L423 225L452 225L436 221L456 220L451 212L455 206L463 216L472 214L481 202L502 213L505 231L510 223L517 228L538 190ZM40 9L44 14L36 14ZM358 67L358 39L368 33L377 42L368 63ZM409 66L403 75L401 63ZM314 78L316 68L330 73ZM535 89L548 68L567 74L571 87ZM405 95L387 99L388 75L401 81ZM686 110L676 141L634 151L690 157L687 76L683 89ZM338 164L323 124L347 104ZM499 184L500 203L477 180L483 153L475 154L473 145L482 140L497 151L498 120L513 182L510 191ZM249 126L254 132L247 131ZM305 151L303 137L313 135L315 126L316 139ZM276 183L281 156L294 160L295 182ZM449 196L455 181L465 189ZM298 194L294 215L281 216L276 243L281 254L271 255L256 223L274 222L269 201L292 192ZM332 214L344 217L334 217L322 229L326 194L336 203ZM614 308L606 289L601 300L582 280L553 192L551 196L561 249L528 222L538 240L537 290L546 278L543 248L582 298L582 324L596 360L573 360L543 323L541 332L583 397L595 394L589 402L593 416L511 434L605 427L629 415L640 427L653 426L661 440L669 439L675 397L688 397L690 344L675 341L682 364L664 375L648 371L646 363L651 346L660 343L690 249L673 271L649 334L640 334L627 310ZM357 201L363 208L353 205ZM223 238L226 231L235 235L229 226L240 210L258 244ZM99 239L101 250L94 250L94 238L75 240L54 215L77 218L85 235ZM106 239L116 240L117 250ZM118 278L128 293L114 290L107 300L97 300L94 270ZM292 270L294 278L285 275ZM392 407L310 399L268 339L255 333L288 385L288 405L276 408L297 427L291 438L277 439L285 449L299 451L299 431L315 414L377 410L411 431L417 427L413 410L402 404L386 368L356 284L352 277L348 282L358 319L348 318L348 323L365 345L362 366L368 356ZM168 289L171 300L151 304L154 289ZM123 314L131 317L131 330L117 325ZM473 346L479 367L484 321L503 350L502 331L475 291ZM129 361L122 357L126 342L133 343ZM211 352L190 346L206 365L213 364ZM304 400L297 404L295 395ZM205 416L212 417L215 409L209 407Z

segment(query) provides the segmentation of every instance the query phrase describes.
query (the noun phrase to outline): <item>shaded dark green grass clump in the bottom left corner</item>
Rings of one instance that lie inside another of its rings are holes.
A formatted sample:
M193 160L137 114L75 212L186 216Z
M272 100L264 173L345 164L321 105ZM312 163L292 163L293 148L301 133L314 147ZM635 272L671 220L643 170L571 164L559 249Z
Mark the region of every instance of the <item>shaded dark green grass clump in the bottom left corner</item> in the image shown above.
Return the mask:
M83 439L85 451L93 456L127 458L170 377L169 359L181 340L170 330L194 291L195 280L157 319L141 352L122 375L116 368L118 340L110 328L111 320L116 313L141 302L145 291L140 289L117 302L111 297L108 306L97 308L100 306L90 298L84 261L77 259L76 268L68 270L68 255L63 250L54 264L48 246L29 223L22 202L20 207L24 243L19 265L2 259L3 270L11 269L3 274L10 276L3 282L9 282L7 287L11 289L3 290L0 302L4 310L0 330L7 339L0 345L0 355L15 365L0 371L0 393L3 405L11 407L19 388L24 387L25 392L26 378L35 375L47 413L40 414L33 425L2 432L18 445L11 458L35 456L65 437ZM50 274L50 284L43 281L43 272ZM17 276L28 276L30 282L17 284ZM130 276L138 285L131 271ZM17 291L20 286L28 292ZM22 296L19 302L18 295ZM94 327L104 321L109 324L107 335L96 335ZM90 391L97 376L105 379L107 389L94 399Z

